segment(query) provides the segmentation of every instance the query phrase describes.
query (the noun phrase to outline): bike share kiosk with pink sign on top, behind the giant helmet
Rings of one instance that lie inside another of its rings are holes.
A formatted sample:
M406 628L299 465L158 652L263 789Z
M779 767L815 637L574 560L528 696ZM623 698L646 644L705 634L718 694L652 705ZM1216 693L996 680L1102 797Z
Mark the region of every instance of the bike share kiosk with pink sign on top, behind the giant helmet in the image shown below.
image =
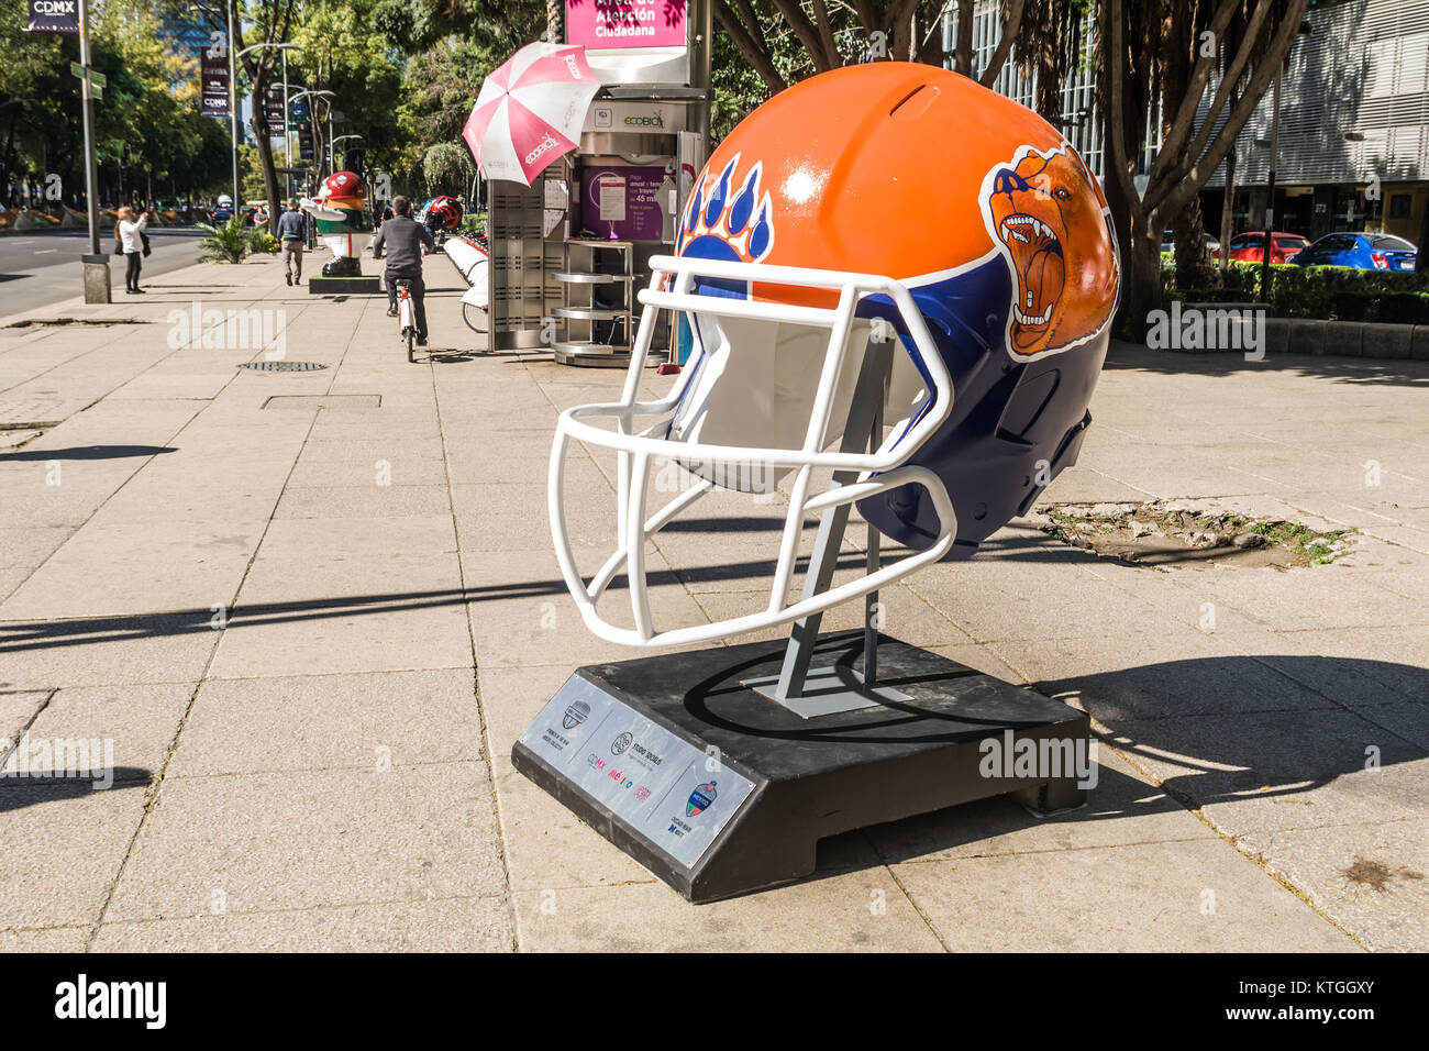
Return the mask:
M576 152L530 187L486 184L493 350L550 347L562 365L630 360L636 292L650 280L650 257L673 250L676 216L704 163L709 40L707 0L567 4L566 43L586 47L602 90ZM666 329L652 362L669 347Z

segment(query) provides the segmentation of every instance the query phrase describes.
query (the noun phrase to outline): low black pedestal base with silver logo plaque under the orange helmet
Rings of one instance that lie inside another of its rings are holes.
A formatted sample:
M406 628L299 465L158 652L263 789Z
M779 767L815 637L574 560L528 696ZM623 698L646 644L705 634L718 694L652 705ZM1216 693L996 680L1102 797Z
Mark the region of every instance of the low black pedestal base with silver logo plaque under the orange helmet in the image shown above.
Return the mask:
M512 761L693 902L809 875L819 839L849 829L1009 792L1085 801L1085 712L882 639L879 684L909 701L805 719L740 685L785 645L580 668ZM830 636L815 665L862 649L862 632Z

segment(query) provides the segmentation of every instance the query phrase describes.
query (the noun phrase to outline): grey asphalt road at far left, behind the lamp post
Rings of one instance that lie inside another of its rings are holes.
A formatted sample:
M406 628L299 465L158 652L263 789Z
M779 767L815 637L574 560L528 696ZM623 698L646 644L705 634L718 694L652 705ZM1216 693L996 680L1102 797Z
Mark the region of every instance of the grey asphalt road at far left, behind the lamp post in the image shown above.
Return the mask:
M200 232L191 227L150 229L153 255L144 260L143 280L191 266L199 256ZM100 229L100 247L113 250L111 230ZM33 310L80 295L80 256L89 252L84 230L17 233L0 237L0 317ZM124 295L123 260L110 260L110 285Z

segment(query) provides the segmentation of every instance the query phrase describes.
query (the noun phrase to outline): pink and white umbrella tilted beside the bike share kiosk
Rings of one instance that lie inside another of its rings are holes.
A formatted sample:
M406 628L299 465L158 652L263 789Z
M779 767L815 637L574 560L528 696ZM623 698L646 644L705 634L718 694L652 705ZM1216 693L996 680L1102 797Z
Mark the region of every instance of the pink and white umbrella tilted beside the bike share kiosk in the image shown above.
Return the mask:
M579 44L526 44L482 84L462 137L487 179L532 184L576 149L600 80Z

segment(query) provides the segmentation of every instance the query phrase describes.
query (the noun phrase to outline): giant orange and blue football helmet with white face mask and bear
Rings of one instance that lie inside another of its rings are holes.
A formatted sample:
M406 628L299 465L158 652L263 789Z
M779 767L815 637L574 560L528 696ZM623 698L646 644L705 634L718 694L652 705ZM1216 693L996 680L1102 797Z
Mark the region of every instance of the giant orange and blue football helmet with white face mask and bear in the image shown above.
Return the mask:
M1117 302L1106 199L1062 136L972 80L922 64L835 70L783 92L714 152L652 260L622 399L562 413L550 520L586 625L636 646L792 621L923 565L967 558L1077 456ZM662 310L693 347L669 396L637 400ZM893 340L880 443L842 442L870 340ZM592 581L563 495L572 440L617 452L619 546ZM850 450L852 449L852 450ZM652 463L693 485L647 509ZM820 469L856 479L813 490ZM765 609L659 629L644 542L714 486L767 490L789 513ZM790 601L803 522L840 503L906 553ZM624 573L633 628L597 612Z

